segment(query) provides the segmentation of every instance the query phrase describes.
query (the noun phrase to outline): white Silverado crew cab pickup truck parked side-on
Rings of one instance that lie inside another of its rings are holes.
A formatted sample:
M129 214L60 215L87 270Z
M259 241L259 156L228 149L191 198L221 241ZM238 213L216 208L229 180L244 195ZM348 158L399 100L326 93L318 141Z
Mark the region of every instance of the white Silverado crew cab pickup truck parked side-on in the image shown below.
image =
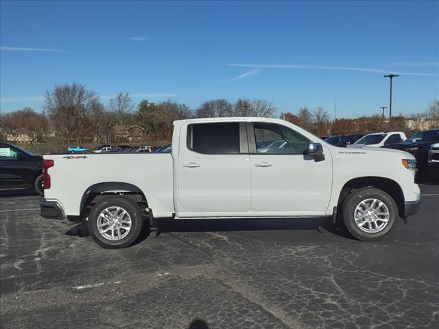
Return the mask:
M278 119L175 121L171 154L46 155L44 163L43 217L84 219L108 248L169 217L332 217L357 239L376 240L420 206L411 154L335 147Z

